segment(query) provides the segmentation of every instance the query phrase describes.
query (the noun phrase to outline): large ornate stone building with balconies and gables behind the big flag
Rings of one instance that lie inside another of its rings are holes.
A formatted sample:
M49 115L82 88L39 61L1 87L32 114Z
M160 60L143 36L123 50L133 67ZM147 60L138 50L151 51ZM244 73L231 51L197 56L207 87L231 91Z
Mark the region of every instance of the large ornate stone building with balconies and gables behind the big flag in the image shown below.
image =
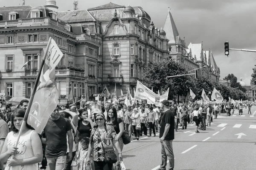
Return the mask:
M101 92L125 91L142 80L149 62L168 58L168 39L141 7L108 3L88 10L58 12L45 6L0 7L0 90L28 97L49 37L64 54L56 68L59 102ZM29 61L30 67L21 68ZM133 92L133 90L131 90Z

